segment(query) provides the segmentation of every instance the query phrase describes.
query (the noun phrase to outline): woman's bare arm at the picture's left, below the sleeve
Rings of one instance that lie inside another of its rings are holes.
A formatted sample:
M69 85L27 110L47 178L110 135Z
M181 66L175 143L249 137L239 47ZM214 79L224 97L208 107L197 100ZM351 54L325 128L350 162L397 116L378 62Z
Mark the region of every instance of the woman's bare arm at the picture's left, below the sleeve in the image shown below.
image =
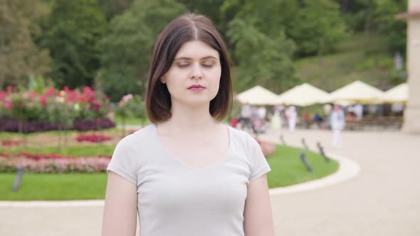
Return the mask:
M103 236L134 236L137 227L137 186L108 171Z

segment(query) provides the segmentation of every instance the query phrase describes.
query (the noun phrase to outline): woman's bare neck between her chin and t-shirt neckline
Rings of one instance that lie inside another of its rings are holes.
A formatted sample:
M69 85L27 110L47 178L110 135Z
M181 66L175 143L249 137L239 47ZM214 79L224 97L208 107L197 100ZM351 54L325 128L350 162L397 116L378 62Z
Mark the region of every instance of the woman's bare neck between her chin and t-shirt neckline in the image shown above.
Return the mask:
M172 134L197 134L214 129L216 120L209 112L210 103L206 106L172 103L172 117L164 122L164 126Z

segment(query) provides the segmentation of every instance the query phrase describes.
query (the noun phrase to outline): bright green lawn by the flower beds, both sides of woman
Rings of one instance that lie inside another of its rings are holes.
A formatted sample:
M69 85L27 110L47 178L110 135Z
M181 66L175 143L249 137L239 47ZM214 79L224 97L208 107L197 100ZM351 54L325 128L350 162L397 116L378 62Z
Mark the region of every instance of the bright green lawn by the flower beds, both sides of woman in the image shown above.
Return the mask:
M98 149L97 146L93 147ZM91 146L78 148L88 151ZM112 149L113 147L104 150L112 152ZM268 157L267 160L272 169L268 173L270 188L310 181L337 171L336 161L325 163L322 156L310 151L308 151L307 160L314 171L306 171L305 166L300 162L300 151L301 149L293 147L277 146L275 153ZM25 173L19 191L14 193L12 186L15 176L14 173L0 173L0 200L81 200L103 199L105 196L106 173Z

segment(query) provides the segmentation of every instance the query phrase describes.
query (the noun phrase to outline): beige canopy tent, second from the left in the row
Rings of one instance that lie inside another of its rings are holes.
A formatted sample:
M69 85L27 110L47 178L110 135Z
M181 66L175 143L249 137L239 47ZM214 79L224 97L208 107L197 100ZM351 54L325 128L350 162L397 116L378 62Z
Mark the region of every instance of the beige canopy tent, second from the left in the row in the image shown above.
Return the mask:
M327 97L328 93L324 90L304 83L303 85L295 86L279 95L278 103L306 107L312 104L322 103Z

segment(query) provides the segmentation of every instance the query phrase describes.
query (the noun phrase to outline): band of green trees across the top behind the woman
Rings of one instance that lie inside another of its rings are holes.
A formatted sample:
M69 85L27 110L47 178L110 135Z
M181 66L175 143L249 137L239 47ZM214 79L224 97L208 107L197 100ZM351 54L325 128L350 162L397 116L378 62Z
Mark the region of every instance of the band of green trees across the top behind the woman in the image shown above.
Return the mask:
M345 48L364 50L352 68L391 70L394 53L406 51L406 21L394 18L406 8L400 0L0 0L0 88L42 75L58 87L95 85L113 101L142 94L157 36L189 11L224 36L236 91L281 92L300 81L297 60L317 55L327 80L324 55Z

